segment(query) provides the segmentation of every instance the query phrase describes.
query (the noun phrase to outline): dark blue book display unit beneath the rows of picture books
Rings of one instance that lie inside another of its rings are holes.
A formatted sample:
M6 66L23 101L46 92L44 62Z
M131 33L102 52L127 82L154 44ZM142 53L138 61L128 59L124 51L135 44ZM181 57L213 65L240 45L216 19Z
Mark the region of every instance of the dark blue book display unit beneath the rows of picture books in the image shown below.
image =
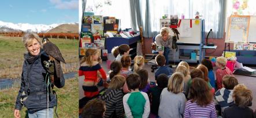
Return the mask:
M119 46L121 44L128 44L132 50L129 52L131 55L131 58L133 59L137 54L137 41L140 40L140 36L135 36L135 37L129 37L129 38L124 38L124 37L109 37L106 38L106 49L107 53L110 54L111 50L113 47Z

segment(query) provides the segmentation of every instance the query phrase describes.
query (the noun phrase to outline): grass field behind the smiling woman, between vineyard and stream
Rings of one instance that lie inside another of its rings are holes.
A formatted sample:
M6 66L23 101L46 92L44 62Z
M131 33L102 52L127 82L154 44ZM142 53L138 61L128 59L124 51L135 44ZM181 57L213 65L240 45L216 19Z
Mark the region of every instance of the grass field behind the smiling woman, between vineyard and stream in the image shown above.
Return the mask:
M64 73L77 71L78 40L50 39L64 56L66 65L62 64ZM23 54L27 53L21 37L0 36L0 78L19 78L24 62Z

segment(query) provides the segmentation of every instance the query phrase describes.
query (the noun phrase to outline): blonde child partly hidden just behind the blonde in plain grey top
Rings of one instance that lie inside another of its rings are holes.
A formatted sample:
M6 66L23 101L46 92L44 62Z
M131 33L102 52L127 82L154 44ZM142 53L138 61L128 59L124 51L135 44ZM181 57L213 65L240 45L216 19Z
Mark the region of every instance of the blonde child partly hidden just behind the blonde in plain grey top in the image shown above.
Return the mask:
M183 89L183 92L185 94L185 96L188 95L188 82L191 80L191 77L190 77L190 74L188 72L188 69L187 67L183 66L183 65L179 65L177 68L176 68L176 72L180 72L184 75L184 89Z

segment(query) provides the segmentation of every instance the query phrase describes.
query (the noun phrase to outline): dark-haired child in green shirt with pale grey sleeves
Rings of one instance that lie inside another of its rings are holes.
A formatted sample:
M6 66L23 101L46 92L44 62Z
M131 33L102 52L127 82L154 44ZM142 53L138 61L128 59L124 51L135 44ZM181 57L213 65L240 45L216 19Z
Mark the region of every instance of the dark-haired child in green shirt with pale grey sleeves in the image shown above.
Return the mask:
M136 73L132 73L128 75L126 82L127 82L128 88L131 90L131 93L125 94L123 98L125 116L127 118L149 117L149 113L150 113L149 97L147 96L147 93L139 91L139 86L140 86L139 75Z

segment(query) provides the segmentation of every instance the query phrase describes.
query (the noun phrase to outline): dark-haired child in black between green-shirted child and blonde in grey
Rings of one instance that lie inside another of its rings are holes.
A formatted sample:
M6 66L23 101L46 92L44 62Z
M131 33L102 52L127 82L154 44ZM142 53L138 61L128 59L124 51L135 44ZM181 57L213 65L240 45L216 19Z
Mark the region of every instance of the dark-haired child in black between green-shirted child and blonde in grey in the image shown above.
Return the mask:
M158 116L158 109L160 104L160 96L162 90L167 87L168 84L168 76L166 74L159 74L157 79L157 86L151 87L149 92L151 96L151 113L153 115Z

